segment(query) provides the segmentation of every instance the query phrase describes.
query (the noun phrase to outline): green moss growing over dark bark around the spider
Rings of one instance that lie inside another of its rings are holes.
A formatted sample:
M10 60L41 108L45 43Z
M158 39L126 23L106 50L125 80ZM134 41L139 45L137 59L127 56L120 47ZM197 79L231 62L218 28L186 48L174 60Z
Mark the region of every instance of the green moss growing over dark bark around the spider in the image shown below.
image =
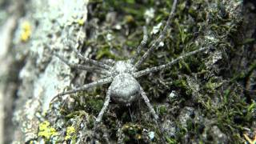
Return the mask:
M91 11L90 14L93 15L88 18L98 18L98 26L95 27L99 30L95 30L95 34L98 34L98 37L96 39L89 38L88 41L86 40L85 45L93 48L93 58L98 60L102 58L123 60L125 59L123 55L135 53L140 40L142 40L142 26L146 26L149 33L148 44L145 48L142 48L142 54L146 52L150 42L153 42L158 36L157 34L150 34L150 31L153 26L157 26L159 22L167 19L173 1L94 0L90 2L94 11ZM181 98L175 98L175 102L171 102L175 105L175 110L177 110L176 114L171 115L171 118L173 118L171 121L174 121L177 126L177 134L175 134L174 138L166 136L166 141L169 143L183 142L185 135L189 135L196 142L209 143L207 139L203 138L205 136L199 132L200 126L198 122L188 121L186 122L187 127L182 127L178 114L184 106L194 106L195 111L200 114L202 122L207 120L207 122L210 121L209 123L218 126L230 139L230 142L234 142L234 140L238 140L235 142L242 142L241 135L239 135L242 134L242 127L248 128L253 122L255 102L251 100L250 96L244 96L240 89L241 85L236 84L243 83L242 81L245 78L250 78L256 67L255 62L250 64L250 70L229 71L231 74L228 76L226 76L227 70L222 71L222 69L230 65L227 64L230 62L229 56L234 57L234 52L240 49L240 47L234 49L235 42L233 38L236 30L238 30L237 26L240 18L231 18L232 14L230 14L230 10L227 7L231 6L230 4L234 1L226 2L220 0L218 0L218 3L210 1L207 3L204 0L178 1L178 8L170 22L171 28L168 29L164 39L165 45L155 50L140 68L140 70L143 70L147 67L162 65L174 58L178 58L182 54L197 50L203 46L215 48L215 50L210 50L207 54L196 54L193 57L185 58L178 62L177 65L171 66L169 70L138 79L143 89L147 92L150 102L157 103L154 108L158 107L160 115L167 115L170 118L170 114L167 114L170 106L167 107L164 104L167 103L166 95L170 94L171 90L175 90L181 96ZM144 13L150 8L155 10L154 18L146 23ZM114 26L121 26L121 30L115 29L109 22L106 22L106 14L110 11L118 14L115 17ZM94 33L94 30L90 31ZM107 34L111 34L114 39L108 41L106 39ZM252 42L254 42L254 39L245 39L239 42L238 45L251 44ZM208 56L212 56L211 54L214 54L217 50L222 51L223 58L214 64L215 67L209 66L211 59ZM224 58L226 54L230 55ZM220 69L218 73L212 70L216 67ZM197 81L198 91L188 86L189 81L187 78L194 78ZM105 91L104 88L99 87L93 92L74 94L73 98L76 99L78 104L74 106L73 111L63 108L66 112L66 120L69 121L70 118L75 118L75 116L82 114L80 110L85 110L86 113L90 114L89 122L86 122L86 126L92 129L94 127L94 117L102 109L104 96L106 95ZM83 101L80 98L83 98ZM147 109L145 108L145 110ZM147 136L142 134L143 128L156 131L157 136L162 136L158 127L152 123L151 125L149 124L151 119L136 118L137 111L134 112L134 115L135 120L133 123L127 123L122 126L125 142L147 142ZM117 123L130 122L130 114L126 111L118 116L104 114L102 121L111 133L116 134L119 128ZM206 137L214 138L211 133L207 133ZM118 139L113 136L111 138L114 141ZM155 142L158 141L156 140Z

